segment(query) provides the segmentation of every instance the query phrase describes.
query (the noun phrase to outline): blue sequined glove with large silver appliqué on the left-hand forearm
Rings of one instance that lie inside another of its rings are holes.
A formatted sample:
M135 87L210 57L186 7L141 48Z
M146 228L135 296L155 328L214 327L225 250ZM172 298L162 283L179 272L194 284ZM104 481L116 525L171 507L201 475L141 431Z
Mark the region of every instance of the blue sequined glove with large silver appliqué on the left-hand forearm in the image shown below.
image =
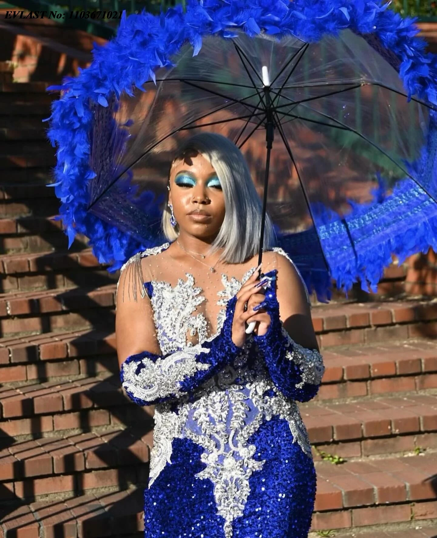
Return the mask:
M142 351L126 358L120 378L129 398L140 406L179 398L231 363L242 351L231 338L236 302L236 296L228 301L223 327L214 339L164 356Z

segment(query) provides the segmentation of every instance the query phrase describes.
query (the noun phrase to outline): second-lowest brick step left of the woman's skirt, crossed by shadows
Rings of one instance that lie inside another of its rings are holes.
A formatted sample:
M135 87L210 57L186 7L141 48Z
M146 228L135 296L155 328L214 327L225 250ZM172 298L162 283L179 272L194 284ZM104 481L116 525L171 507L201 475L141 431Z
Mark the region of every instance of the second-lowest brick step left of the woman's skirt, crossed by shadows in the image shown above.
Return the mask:
M149 462L150 447L153 446L152 425L149 421L143 430L118 429L100 434L87 432L8 443L0 450L0 500L10 500L12 493L23 498L26 491L33 491L35 495L65 492L67 490L43 491L42 488L56 479L64 487L67 483L71 485L78 473L83 484L87 479L95 478L89 473L96 469L112 468L110 474L114 479L119 474L114 468L144 466ZM71 475L70 480L66 480L65 475ZM31 489L30 482L36 487Z

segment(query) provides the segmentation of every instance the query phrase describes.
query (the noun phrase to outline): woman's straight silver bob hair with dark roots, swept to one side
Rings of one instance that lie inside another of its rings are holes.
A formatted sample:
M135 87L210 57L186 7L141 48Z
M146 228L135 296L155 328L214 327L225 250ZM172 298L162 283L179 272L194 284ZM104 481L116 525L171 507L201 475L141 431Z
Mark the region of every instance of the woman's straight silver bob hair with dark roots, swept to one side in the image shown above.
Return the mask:
M224 220L208 253L211 254L224 247L219 258L221 261L243 263L258 254L263 209L248 164L238 147L217 133L201 132L185 140L171 166L174 162L184 159L189 152L200 153L210 162L223 189ZM166 203L162 226L165 237L172 242L179 237L179 226L177 224L173 228L170 224L170 215ZM273 246L276 246L276 234L271 218L266 213L263 250Z

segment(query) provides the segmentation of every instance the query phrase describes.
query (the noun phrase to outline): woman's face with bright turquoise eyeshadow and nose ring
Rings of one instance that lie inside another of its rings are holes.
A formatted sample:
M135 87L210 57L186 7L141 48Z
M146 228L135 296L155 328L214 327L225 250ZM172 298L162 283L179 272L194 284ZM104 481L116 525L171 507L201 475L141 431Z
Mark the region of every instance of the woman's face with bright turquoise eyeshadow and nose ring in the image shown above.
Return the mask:
M223 191L214 168L200 153L174 162L168 201L180 233L205 239L219 233L225 213Z

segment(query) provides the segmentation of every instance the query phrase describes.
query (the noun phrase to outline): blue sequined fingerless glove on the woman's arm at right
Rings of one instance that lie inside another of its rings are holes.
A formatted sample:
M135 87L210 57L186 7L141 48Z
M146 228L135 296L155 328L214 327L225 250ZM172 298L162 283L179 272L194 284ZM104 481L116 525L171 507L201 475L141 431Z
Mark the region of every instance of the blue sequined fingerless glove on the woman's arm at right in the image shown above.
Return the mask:
M262 352L273 383L286 398L309 401L319 391L325 372L323 358L317 350L295 343L279 319L276 297L276 270L265 274L269 284L262 307L269 313L271 324L263 336L253 335L253 342Z

